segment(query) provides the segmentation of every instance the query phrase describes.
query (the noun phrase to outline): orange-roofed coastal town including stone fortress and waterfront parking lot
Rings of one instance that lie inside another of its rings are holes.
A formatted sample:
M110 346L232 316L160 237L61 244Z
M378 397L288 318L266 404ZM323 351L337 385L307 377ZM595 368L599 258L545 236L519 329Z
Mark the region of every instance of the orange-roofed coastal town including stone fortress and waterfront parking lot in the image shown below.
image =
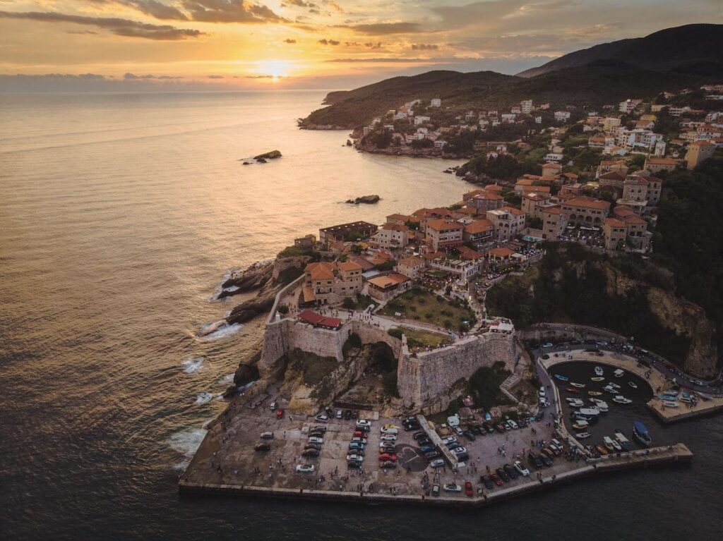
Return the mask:
M722 91L701 89L717 106ZM422 126L403 144L440 142L444 132L424 131L431 116L414 115L416 105L393 112ZM644 423L720 410L719 381L608 329L515 329L486 302L555 243L612 258L654 253L668 173L695 169L723 143L719 113L658 105L625 100L607 116L557 111L565 126L534 136L549 139L534 154L538 172L467 170L481 186L454 204L296 238L277 259L301 267L275 296L254 358L258 378L239 382L181 491L487 505L594 472L690 459L683 443ZM523 102L477 126L535 111ZM684 131L653 131L662 118L670 126L668 117ZM398 139L397 124L384 130ZM379 133L369 126L364 137ZM480 159L520 163L530 148L500 142Z

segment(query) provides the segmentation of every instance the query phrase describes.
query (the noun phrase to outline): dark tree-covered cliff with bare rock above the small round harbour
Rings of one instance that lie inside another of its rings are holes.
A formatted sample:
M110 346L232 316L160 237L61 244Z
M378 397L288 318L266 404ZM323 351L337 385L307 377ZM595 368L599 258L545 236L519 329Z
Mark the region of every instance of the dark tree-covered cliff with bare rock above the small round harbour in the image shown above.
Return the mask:
M716 324L675 295L672 274L638 256L600 256L577 244L547 243L538 267L508 277L487 294L490 314L519 328L542 322L598 326L701 378L716 374Z

